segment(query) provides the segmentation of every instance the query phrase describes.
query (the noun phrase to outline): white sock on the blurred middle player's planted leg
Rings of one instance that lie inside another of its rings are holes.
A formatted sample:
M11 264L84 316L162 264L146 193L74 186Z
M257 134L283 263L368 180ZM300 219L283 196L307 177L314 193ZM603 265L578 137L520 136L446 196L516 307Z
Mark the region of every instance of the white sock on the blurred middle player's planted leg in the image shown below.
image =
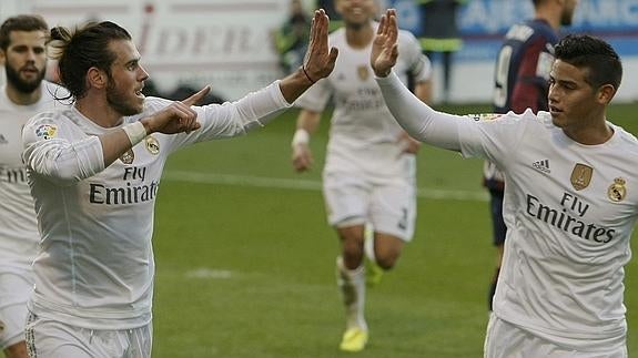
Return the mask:
M367 330L364 317L365 308L365 267L347 269L343 258L336 258L337 285L342 293L347 328L358 327Z

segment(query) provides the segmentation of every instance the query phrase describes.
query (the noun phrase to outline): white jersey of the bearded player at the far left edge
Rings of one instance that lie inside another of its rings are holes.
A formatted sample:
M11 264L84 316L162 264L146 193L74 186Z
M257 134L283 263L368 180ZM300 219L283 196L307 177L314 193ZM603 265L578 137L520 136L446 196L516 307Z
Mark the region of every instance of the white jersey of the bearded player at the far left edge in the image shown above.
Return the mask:
M7 85L0 88L0 270L3 273L30 270L38 253L40 235L21 157L21 131L37 113L63 106L53 95L65 91L43 81L41 92L37 103L17 105L7 96Z

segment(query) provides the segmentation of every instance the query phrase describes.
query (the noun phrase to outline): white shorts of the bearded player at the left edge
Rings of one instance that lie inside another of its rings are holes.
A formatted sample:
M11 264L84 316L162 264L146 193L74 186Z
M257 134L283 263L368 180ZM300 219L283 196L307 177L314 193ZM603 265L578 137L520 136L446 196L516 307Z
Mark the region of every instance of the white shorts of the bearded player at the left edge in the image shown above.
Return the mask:
M33 291L33 274L0 274L0 348L24 340L27 300Z

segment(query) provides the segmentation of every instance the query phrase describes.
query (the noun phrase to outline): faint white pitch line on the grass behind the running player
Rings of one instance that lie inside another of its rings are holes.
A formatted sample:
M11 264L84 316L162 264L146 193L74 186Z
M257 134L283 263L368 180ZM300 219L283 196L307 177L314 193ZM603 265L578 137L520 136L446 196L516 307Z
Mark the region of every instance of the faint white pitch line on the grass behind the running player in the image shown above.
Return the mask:
M300 191L322 190L322 183L320 181L291 180L281 177L253 176L253 175L165 171L163 178L168 181L200 183L200 184L223 184L223 185L285 188L285 190L300 190ZM487 202L489 200L487 193L483 191L472 192L472 191L433 190L427 187L418 187L416 195L417 197L421 198L454 200L465 202Z

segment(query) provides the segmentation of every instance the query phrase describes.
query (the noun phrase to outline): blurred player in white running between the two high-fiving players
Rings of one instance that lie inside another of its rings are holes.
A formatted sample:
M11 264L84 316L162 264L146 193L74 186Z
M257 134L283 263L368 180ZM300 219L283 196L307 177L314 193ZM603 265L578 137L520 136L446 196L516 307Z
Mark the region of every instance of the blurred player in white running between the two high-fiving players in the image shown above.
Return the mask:
M340 348L359 351L368 338L364 317L365 227L369 224L374 231L369 256L381 269L391 269L404 242L409 242L414 233L418 143L392 119L369 67L377 1L336 0L335 7L344 27L331 34L330 42L340 49L340 58L333 73L295 103L303 110L292 143L292 160L297 172L312 166L310 133L316 130L332 96L334 112L323 171L323 194L328 222L342 244L337 283L346 309L346 330ZM398 41L402 55L397 72L405 82L408 72L412 73L415 93L426 101L431 92L429 61L411 33L402 31Z

